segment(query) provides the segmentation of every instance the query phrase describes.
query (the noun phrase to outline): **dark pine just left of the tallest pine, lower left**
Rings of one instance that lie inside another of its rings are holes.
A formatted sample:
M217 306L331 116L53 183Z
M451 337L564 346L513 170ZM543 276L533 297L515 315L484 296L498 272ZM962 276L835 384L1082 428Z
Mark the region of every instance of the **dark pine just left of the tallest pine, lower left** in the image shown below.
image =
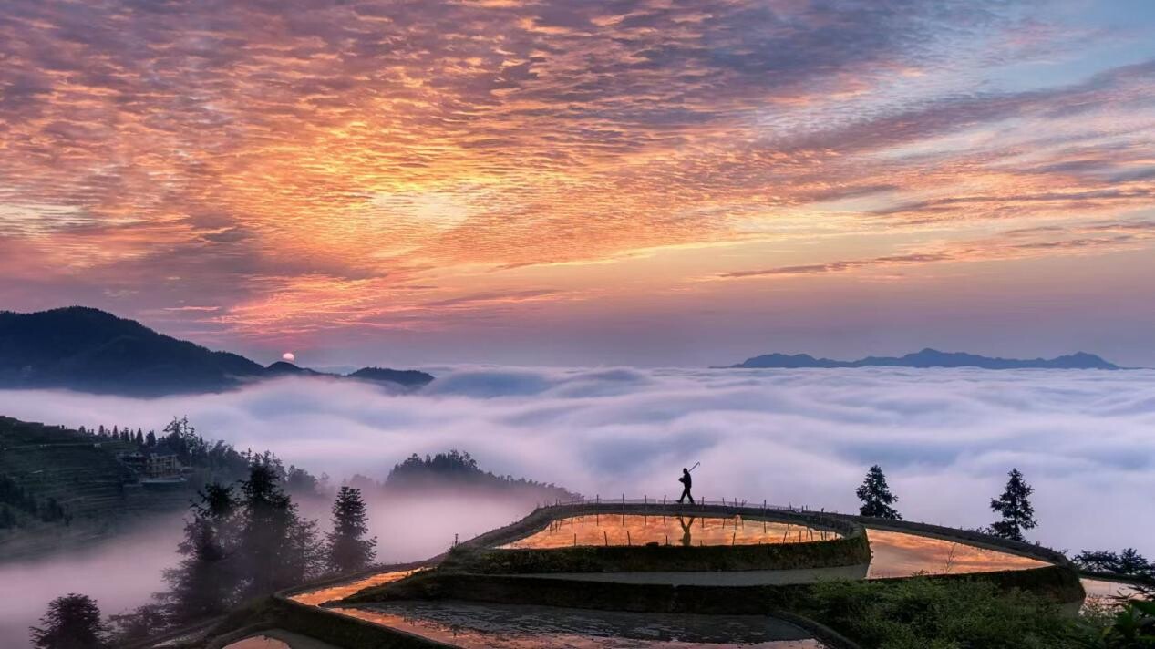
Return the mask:
M165 570L170 592L165 610L176 622L192 621L225 612L237 590L232 549L236 545L237 501L232 490L211 483L193 503L193 519L185 525L178 546L180 564Z

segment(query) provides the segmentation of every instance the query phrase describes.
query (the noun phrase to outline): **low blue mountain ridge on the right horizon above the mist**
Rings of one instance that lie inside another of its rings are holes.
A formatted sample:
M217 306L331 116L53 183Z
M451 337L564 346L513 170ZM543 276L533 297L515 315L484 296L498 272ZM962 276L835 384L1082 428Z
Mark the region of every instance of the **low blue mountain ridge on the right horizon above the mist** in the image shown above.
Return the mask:
M797 367L978 367L982 370L1120 370L1118 365L1108 363L1094 353L1076 352L1058 358L1036 358L1021 360L1015 358L991 358L974 353L947 352L924 349L902 357L869 356L859 360L830 360L814 358L806 353L785 355L767 353L730 365L738 368L797 368Z

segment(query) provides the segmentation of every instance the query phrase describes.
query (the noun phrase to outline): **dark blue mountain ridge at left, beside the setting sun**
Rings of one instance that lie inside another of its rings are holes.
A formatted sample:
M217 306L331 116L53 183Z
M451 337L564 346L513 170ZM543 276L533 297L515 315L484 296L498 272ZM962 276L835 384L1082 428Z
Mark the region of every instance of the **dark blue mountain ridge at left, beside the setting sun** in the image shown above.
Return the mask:
M343 378L284 361L262 367L96 308L0 312L0 388L157 396L222 391L285 375ZM433 380L425 372L377 367L350 376L405 388Z

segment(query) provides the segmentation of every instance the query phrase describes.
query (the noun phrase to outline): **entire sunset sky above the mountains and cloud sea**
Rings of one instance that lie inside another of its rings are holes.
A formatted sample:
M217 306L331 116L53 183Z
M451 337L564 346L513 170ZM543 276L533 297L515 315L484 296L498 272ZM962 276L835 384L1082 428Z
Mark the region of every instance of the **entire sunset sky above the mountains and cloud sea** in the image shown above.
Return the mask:
M1146 0L8 0L0 308L304 365L1155 366Z

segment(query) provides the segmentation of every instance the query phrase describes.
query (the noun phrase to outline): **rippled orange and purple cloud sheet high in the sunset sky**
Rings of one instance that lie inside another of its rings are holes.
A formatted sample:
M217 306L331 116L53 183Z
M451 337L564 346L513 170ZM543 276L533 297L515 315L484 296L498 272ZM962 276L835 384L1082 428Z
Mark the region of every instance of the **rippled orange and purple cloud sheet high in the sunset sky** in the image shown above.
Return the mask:
M1118 44L1057 5L13 0L0 301L103 296L233 341L422 331L678 291L742 262L641 288L594 262L799 214L936 238L1146 207L1152 62L1008 69ZM820 266L810 244L787 263Z

